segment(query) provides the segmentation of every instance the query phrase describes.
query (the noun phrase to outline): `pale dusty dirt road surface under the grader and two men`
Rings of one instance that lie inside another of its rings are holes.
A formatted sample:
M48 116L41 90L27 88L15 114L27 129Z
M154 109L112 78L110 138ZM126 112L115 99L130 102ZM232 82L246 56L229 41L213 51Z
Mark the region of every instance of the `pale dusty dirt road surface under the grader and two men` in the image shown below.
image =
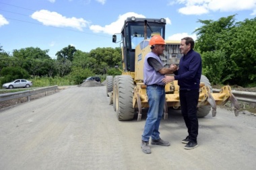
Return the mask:
M169 110L160 136L170 146L142 153L146 121L117 120L106 87L69 87L0 112L0 169L255 169L256 117L218 108L199 119L199 146L185 150L187 129Z

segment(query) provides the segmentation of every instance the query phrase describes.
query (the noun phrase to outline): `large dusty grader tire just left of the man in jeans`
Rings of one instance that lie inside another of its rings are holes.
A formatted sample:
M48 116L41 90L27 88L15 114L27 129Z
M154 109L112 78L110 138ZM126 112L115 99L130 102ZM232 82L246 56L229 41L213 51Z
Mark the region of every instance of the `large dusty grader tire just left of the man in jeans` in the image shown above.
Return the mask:
M116 113L118 120L133 120L133 79L129 75L121 75L116 80Z

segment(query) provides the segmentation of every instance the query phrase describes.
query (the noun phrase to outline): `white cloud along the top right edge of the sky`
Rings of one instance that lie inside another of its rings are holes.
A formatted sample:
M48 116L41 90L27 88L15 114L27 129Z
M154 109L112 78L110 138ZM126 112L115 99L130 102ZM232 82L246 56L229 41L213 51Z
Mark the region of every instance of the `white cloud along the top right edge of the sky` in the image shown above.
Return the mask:
M185 5L178 11L185 15L201 15L210 11L243 11L253 10L251 15L255 15L256 0L175 0L168 5Z

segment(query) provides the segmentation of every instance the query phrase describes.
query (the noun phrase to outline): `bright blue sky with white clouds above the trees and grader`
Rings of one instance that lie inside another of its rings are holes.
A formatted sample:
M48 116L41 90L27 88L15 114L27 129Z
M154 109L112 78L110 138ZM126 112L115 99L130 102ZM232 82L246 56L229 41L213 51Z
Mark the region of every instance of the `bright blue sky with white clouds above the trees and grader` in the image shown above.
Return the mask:
M90 52L119 47L112 35L127 17L166 19L166 40L197 39L200 20L236 15L236 22L256 17L256 0L0 0L0 46L34 47L55 54L71 45Z

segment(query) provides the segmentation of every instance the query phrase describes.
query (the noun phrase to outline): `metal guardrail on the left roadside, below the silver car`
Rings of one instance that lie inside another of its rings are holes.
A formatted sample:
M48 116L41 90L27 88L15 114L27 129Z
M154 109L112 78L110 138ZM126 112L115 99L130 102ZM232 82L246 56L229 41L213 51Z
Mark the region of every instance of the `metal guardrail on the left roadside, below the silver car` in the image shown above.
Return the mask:
M0 102L1 101L8 101L11 99L18 99L22 97L27 97L27 101L30 101L30 97L32 95L36 95L38 93L43 93L45 92L45 95L47 95L47 91L52 91L58 89L57 85L51 86L51 87L44 87L40 89L32 89L32 90L26 90L26 91L20 91L20 92L14 92L14 93L6 93L6 94L1 94L0 95Z

